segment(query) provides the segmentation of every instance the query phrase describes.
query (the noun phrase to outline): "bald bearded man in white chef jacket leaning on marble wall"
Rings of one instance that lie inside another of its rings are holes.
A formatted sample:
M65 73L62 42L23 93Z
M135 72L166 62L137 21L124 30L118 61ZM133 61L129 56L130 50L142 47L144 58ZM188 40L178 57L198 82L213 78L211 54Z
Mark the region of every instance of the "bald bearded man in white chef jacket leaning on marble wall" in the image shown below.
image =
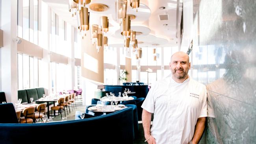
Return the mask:
M198 144L207 117L206 86L189 78L186 53L173 54L169 65L172 74L151 87L141 106L145 141L148 144Z

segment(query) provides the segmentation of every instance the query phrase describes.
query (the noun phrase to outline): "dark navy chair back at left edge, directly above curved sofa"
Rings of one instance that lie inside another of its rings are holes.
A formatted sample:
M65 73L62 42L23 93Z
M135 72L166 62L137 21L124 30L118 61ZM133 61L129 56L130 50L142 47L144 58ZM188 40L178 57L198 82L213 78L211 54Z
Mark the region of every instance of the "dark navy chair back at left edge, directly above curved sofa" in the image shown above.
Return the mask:
M19 124L13 103L0 104L0 123Z

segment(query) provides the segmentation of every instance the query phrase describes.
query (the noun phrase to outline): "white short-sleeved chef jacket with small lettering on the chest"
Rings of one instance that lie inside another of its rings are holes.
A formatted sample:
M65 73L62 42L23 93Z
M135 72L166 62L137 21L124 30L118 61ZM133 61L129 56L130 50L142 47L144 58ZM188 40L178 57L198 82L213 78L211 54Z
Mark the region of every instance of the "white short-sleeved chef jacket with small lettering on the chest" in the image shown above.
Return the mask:
M156 144L187 144L197 119L207 117L206 86L188 78L177 83L171 76L149 90L142 108L154 113L150 129Z

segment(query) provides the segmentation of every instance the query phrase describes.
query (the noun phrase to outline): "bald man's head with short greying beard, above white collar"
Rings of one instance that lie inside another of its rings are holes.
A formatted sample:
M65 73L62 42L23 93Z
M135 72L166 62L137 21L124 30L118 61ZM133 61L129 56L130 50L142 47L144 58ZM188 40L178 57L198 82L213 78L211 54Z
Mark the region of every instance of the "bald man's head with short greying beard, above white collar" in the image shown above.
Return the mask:
M173 77L176 79L187 78L188 70L190 69L189 57L186 54L176 53L171 58L170 69Z

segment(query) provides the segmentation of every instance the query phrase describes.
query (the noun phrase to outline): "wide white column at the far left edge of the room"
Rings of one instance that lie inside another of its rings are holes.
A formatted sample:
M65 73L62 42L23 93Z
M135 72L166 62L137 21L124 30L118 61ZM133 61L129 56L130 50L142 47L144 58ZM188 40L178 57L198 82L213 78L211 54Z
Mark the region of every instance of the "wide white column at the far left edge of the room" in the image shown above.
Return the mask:
M1 48L1 91L7 102L17 103L17 0L2 0L1 28L4 31L4 47Z

